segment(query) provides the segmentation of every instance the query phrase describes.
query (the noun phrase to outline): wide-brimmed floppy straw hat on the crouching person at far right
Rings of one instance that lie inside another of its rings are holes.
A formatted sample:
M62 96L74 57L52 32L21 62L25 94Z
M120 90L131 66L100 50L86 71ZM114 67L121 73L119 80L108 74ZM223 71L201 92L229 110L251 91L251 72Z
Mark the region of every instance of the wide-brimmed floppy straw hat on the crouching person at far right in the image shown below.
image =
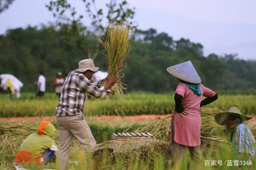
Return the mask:
M229 116L238 117L242 122L252 119L252 117L242 115L237 107L229 108L228 112L218 113L217 115L215 115L214 119L218 124L225 125L226 120L228 119Z

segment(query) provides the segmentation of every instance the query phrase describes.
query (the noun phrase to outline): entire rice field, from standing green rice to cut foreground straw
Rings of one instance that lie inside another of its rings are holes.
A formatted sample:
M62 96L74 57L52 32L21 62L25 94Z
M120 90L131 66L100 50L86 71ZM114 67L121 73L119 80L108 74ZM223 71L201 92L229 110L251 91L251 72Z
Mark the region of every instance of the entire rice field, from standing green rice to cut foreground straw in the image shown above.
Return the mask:
M33 99L33 95L32 93L25 93L22 94L22 98L15 100L10 100L8 95L0 95L0 120L2 119L0 121L0 170L13 169L12 162L22 139L35 132L41 120L51 121L58 129L54 118L58 98L52 93L46 93L45 99L39 101ZM223 112L230 106L236 106L242 113L254 115L256 113L255 103L256 95L219 95L216 102L201 108L201 135L224 137L224 127L219 126L213 119L215 113ZM97 141L97 146L91 157L85 159L82 152L83 148L77 140L73 139L69 169L185 170L186 162L190 163L192 169L200 170L247 169L247 166L228 166L227 161L236 160L236 154L232 148L229 146L216 147L211 144L201 145L202 156L199 163L193 163L188 157L184 157L184 161L174 167L169 142L170 113L173 107L174 101L171 93L164 95L132 93L122 97L115 96L112 100L102 98L86 101L84 115ZM110 115L117 116L111 117ZM136 116L129 117L132 115ZM39 118L30 119L28 118L30 116ZM8 117L27 118L6 119ZM256 137L255 119L247 123ZM150 132L154 135L154 140L111 141L111 134L117 132ZM59 146L58 131L54 135L54 140ZM225 165L220 165L220 161ZM30 169L35 168L30 167ZM37 169L58 170L58 163L52 161L50 164ZM252 160L250 169L256 169L256 160Z

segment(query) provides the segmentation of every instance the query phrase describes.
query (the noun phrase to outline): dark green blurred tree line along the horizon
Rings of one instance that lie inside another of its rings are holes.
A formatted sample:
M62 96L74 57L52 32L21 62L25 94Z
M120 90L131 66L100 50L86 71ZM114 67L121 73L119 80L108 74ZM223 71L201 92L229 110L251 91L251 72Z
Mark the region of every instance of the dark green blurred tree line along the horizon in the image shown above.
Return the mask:
M25 29L9 29L0 35L0 74L11 73L24 83L23 91L35 91L33 82L38 71L46 77L46 91L52 85L58 71L67 75L78 68L78 62L88 58L78 46L67 46L63 38L65 29L54 25L28 26ZM83 41L95 44L93 32L86 31ZM167 33L156 29L135 30L132 33L133 47L126 59L124 84L128 91L174 91L178 80L167 73L166 68L191 60L202 83L214 90L247 90L256 86L256 61L241 60L237 54L204 56L203 46L181 38L174 40ZM95 65L107 71L103 48L97 49Z

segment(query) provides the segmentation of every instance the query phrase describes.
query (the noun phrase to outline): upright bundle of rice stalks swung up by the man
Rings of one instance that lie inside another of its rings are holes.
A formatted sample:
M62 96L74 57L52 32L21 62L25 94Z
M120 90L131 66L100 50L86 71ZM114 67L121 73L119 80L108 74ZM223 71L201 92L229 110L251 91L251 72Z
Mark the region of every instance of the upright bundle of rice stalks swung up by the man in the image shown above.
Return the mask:
M128 25L124 26L122 23L111 24L107 28L105 40L102 40L98 35L96 36L98 41L104 46L107 53L108 75L117 75L119 78L117 83L111 86L110 90L113 93L109 95L113 96L123 94L122 90L125 88L120 79L124 77L124 60L132 49L130 27ZM102 85L106 84L106 82L107 80L103 82Z

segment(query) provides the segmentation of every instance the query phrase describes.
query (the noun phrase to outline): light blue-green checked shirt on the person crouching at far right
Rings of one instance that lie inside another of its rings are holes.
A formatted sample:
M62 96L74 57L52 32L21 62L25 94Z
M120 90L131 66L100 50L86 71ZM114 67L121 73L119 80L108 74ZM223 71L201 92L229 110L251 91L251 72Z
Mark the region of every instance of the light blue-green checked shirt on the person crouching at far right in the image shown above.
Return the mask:
M250 154L253 157L255 154L255 139L247 124L240 123L236 127L236 131L232 137L232 145L237 152Z

